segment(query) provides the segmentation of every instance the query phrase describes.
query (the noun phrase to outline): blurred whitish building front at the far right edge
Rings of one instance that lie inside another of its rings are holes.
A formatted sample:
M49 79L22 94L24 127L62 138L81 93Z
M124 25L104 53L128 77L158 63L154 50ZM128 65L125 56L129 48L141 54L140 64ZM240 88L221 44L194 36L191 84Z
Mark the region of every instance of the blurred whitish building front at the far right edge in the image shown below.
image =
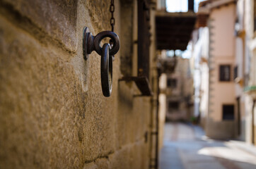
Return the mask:
M236 14L235 35L237 36L236 49L238 50L236 82L238 101L241 100L239 105L242 113L241 133L246 142L256 144L256 2L252 0L238 1ZM243 87L243 93L240 92L239 87Z

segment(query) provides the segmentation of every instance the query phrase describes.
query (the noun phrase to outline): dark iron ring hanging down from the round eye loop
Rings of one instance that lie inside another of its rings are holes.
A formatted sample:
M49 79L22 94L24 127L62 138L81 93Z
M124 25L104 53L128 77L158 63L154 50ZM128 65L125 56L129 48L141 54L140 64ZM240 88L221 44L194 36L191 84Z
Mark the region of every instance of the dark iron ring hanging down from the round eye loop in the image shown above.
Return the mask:
M101 61L100 61L100 77L103 95L108 97L112 92L112 56L110 56L110 44L103 44Z

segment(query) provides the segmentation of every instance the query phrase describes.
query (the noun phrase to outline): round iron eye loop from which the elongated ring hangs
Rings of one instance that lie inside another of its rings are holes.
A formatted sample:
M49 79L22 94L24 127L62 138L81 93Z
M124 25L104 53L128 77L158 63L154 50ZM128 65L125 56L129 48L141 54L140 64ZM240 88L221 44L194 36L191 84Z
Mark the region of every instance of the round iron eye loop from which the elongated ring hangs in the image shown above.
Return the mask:
M97 54L101 55L103 54L103 48L100 47L100 41L102 39L104 39L105 37L110 37L113 41L113 46L110 49L110 55L115 55L117 54L117 51L120 49L120 42L119 42L119 37L117 34L115 34L115 32L111 32L111 31L103 31L98 33L98 35L96 35L93 38L93 44L94 44L94 48L95 51L97 52Z

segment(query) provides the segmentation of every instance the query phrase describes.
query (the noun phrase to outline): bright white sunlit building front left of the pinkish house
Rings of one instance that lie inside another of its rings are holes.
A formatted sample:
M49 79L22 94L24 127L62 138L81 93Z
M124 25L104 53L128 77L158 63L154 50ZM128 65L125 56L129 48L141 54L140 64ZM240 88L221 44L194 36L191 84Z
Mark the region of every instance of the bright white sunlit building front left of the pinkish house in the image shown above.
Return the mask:
M206 125L209 102L209 29L199 27L192 33L192 75L194 76L194 117Z

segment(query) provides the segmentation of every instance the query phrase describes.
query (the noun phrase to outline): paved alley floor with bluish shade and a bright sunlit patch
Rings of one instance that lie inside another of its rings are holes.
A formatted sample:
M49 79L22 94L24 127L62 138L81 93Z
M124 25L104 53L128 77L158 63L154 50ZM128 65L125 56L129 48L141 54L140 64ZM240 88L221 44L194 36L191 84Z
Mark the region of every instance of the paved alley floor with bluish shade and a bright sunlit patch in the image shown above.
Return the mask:
M208 139L195 125L166 123L160 169L256 169L256 148Z

